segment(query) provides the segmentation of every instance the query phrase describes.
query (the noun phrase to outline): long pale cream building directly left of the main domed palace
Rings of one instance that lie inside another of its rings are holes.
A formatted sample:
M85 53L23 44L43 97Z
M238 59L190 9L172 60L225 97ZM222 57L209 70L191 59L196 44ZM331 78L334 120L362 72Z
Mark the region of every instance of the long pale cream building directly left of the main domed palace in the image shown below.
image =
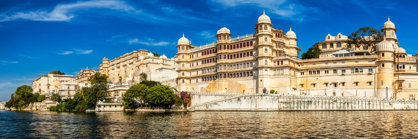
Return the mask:
M148 80L166 81L176 79L176 62L174 58L167 58L166 55L155 57L148 50L138 50L126 53L113 60L106 57L102 59L100 73L107 74L113 84L140 82L139 74L148 75ZM176 84L172 84L176 87Z

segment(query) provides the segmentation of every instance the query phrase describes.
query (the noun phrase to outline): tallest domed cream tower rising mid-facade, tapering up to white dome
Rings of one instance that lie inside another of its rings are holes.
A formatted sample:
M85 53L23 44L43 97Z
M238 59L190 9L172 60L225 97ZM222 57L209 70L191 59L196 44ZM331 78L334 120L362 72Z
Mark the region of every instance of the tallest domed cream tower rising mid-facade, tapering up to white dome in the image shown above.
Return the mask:
M269 76L271 73L272 63L271 60L273 59L273 45L272 45L272 27L270 17L265 15L265 11L263 11L263 15L258 17L258 22L255 25L256 35L257 37L257 72L258 72L258 80L257 80L257 92L263 92L263 89L266 88L269 90L270 88L270 78Z

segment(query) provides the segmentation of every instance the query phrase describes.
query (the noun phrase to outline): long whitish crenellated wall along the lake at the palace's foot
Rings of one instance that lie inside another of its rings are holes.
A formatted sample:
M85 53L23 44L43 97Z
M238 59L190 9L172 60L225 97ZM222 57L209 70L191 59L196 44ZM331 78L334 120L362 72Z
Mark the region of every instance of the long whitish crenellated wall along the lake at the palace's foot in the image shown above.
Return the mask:
M192 102L195 111L418 110L416 100L368 97L209 93L192 96Z

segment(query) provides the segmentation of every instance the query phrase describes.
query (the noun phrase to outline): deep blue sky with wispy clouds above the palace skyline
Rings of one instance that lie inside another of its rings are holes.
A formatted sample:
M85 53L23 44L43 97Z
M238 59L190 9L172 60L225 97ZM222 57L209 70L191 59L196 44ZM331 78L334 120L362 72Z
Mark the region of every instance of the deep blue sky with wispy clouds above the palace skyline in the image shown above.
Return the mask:
M328 33L380 30L387 16L400 45L418 50L417 0L1 0L0 100L51 70L98 69L103 57L139 49L173 57L182 33L197 46L215 41L218 27L252 34L263 10L273 27L292 27L303 51Z

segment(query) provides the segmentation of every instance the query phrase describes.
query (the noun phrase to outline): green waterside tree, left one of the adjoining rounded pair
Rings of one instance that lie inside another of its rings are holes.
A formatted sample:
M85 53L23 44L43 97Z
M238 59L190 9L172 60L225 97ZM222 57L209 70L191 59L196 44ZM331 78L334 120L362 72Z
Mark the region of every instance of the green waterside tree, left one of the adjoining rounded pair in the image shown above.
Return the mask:
M140 102L141 107L147 96L148 87L144 84L135 84L126 90L122 95L123 104L126 109L136 109L136 101Z

